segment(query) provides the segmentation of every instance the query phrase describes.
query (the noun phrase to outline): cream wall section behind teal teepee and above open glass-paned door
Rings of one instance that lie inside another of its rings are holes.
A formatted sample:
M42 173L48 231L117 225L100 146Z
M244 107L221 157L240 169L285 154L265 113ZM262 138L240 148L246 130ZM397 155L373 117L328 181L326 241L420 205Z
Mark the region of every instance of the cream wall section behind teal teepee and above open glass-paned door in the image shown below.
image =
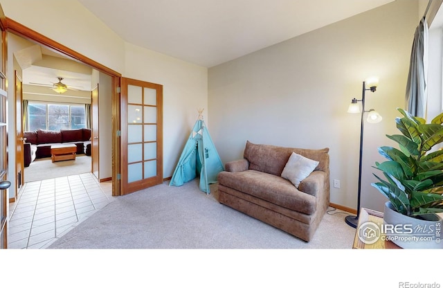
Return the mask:
M199 108L207 119L208 69L128 43L125 51L125 77L163 85L163 177L171 177Z

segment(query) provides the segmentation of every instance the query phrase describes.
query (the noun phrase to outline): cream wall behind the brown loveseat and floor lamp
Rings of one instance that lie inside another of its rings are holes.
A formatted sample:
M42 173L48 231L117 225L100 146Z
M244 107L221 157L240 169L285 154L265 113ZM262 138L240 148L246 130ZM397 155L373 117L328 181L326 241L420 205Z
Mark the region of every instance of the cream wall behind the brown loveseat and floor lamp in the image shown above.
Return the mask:
M397 133L396 107L404 107L417 9L417 1L395 1L210 68L210 132L222 161L242 157L247 140L329 147L331 201L356 208L360 116L346 110L361 98L362 81L377 75L366 108L383 121L365 125L362 206L383 210L372 166L384 161L377 147L395 145L385 135Z

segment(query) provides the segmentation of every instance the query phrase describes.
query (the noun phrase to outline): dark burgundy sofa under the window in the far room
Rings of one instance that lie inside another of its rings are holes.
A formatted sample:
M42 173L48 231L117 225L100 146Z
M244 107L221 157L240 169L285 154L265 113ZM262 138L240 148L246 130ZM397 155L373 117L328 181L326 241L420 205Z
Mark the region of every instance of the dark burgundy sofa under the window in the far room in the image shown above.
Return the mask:
M75 144L77 154L91 156L91 129L24 132L24 166L39 158L51 157L51 145Z

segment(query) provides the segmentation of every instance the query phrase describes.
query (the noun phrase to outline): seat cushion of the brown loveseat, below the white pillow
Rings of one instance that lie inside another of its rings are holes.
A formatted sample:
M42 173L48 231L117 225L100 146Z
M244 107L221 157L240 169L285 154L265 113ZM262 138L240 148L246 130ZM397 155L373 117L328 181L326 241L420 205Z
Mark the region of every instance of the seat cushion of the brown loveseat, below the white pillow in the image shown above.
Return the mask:
M220 172L219 184L244 192L275 205L311 215L316 211L316 197L299 191L280 176L256 170Z

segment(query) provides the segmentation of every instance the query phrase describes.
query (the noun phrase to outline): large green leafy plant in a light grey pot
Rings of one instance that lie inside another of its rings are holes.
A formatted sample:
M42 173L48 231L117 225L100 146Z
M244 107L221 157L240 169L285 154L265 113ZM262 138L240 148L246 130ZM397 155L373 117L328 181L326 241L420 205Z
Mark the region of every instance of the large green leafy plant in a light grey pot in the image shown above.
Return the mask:
M443 248L440 242L443 213L443 113L431 123L397 109L401 134L386 135L399 145L379 147L388 161L376 162L386 179L372 183L389 201L386 202L383 232L403 248ZM443 239L442 239L443 240Z

